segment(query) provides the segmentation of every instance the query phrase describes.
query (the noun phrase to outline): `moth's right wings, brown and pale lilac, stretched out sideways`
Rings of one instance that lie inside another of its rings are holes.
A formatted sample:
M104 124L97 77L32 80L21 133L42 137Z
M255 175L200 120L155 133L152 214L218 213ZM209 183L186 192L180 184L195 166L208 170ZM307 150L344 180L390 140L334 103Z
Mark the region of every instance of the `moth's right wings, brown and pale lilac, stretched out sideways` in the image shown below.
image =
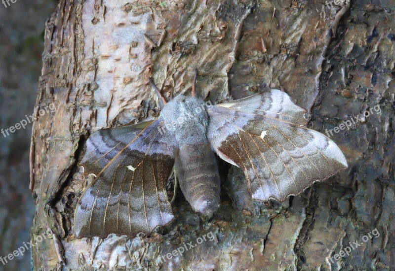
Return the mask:
M348 167L332 140L303 127L304 113L279 90L208 109L211 146L243 169L252 198L284 201Z

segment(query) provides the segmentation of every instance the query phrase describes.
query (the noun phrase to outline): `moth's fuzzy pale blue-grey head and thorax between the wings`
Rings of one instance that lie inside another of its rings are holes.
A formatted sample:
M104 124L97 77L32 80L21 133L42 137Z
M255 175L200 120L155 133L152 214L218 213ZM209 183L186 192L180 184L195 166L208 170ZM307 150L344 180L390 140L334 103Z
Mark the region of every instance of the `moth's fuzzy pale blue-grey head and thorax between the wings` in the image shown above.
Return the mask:
M193 132L191 127L205 130L208 123L204 101L184 95L178 95L167 102L160 111L160 117L164 120L166 129L173 134L180 130Z

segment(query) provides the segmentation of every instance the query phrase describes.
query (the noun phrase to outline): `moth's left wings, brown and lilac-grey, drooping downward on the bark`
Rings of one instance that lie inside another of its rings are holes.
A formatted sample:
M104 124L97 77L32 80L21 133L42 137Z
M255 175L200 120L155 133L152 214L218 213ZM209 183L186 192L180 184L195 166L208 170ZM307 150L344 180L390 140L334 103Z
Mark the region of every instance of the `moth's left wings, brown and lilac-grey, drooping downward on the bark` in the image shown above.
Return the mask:
M157 120L89 136L80 165L95 179L77 204L77 237L134 237L173 219L165 188L177 143L159 125Z

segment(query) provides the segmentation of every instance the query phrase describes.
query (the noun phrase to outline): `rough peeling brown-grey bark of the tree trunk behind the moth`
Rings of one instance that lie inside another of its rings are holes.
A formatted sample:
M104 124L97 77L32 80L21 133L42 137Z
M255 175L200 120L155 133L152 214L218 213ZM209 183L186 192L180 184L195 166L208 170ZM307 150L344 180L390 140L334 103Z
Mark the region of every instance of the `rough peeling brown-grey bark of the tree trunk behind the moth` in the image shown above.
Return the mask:
M36 270L394 270L395 10L391 0L61 0L45 29L33 128L32 239ZM206 220L180 195L176 219L150 236L76 239L73 211L87 182L77 166L87 135L158 115L148 78L170 97L197 89L213 103L268 88L308 109L349 169L284 203L251 201L245 178L220 162L221 206ZM368 117L361 114L375 105ZM36 111L37 112L37 111ZM380 236L362 242L377 228ZM204 241L161 256L207 233ZM340 261L330 258L358 241ZM162 259L162 260L160 260Z

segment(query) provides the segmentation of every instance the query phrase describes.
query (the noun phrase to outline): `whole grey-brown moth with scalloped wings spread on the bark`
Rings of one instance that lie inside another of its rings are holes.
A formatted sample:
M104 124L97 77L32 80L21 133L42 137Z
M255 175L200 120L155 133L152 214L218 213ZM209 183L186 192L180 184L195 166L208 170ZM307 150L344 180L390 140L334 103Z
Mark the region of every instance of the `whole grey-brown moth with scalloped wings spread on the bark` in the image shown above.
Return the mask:
M299 195L348 167L339 147L308 129L306 110L280 90L208 106L195 97L195 83L191 97L167 103L154 89L158 119L87 139L80 165L95 179L77 203L76 237L134 237L171 222L166 183L173 166L192 208L211 215L220 200L214 153L242 169L251 197L263 202Z

